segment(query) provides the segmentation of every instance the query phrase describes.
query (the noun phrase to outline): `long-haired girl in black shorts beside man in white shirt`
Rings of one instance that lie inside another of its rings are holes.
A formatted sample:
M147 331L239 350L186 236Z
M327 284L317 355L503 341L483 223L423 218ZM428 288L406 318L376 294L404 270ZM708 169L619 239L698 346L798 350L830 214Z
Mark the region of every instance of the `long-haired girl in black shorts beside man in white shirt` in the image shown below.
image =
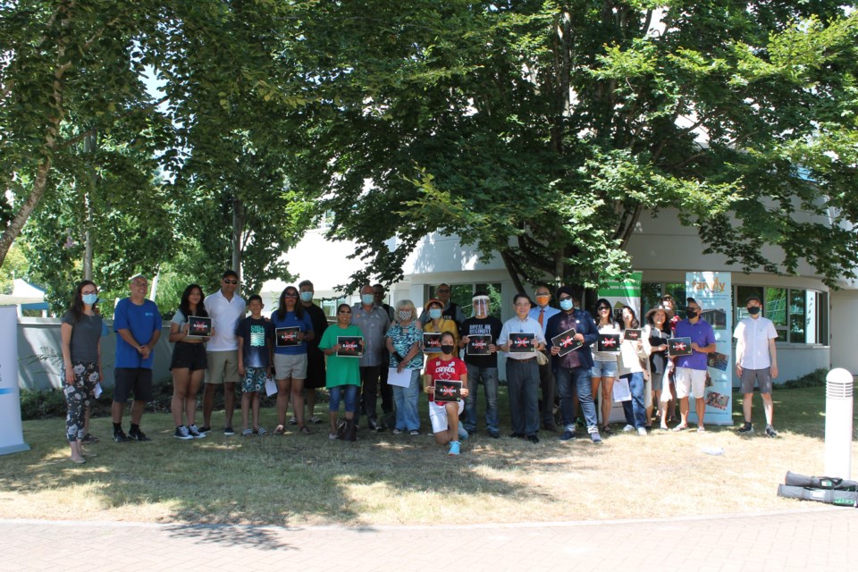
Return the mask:
M172 401L170 411L172 423L176 430L172 436L176 439L202 439L206 433L197 428L197 391L200 383L203 383L203 375L206 374L208 361L206 358L207 337L189 336L188 318L191 315L208 317L203 300L206 295L199 284L191 284L181 293L179 309L170 321L169 340L175 345L172 347L172 361L170 362L170 373L172 374ZM181 422L181 414L185 414L186 424Z

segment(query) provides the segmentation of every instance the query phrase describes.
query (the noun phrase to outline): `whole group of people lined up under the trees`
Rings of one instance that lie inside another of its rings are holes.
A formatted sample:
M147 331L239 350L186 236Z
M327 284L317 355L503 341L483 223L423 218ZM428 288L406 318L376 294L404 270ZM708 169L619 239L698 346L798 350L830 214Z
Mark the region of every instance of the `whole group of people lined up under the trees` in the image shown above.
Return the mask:
M393 433L417 435L422 386L428 394L435 441L448 446L450 455L458 455L461 440L477 430L480 384L484 389L485 431L492 438L501 436L499 352L507 356L510 437L539 442L541 426L556 430L554 410L559 401L559 440L576 438L576 412L580 410L590 439L601 443L601 433L610 431L612 390L617 379L628 383L632 398L623 402L627 420L624 431L646 434L653 419L653 403L660 405L655 418L660 419L662 429L667 429L675 399L679 401L680 421L673 430L688 428L692 391L698 431L705 431L706 354L715 351L715 337L711 325L702 320L701 308L694 299L687 300L687 317L680 320L673 300L664 297L660 305L646 313L643 333L633 340L625 336L627 330L641 329L633 308L623 307L618 323L608 300L600 299L596 304L598 318L593 319L568 286L557 290L559 308L550 305L548 284L537 285L535 304L526 294L518 293L513 299L515 316L501 323L489 315L490 298L484 291L475 292L472 315L466 318L462 308L450 301L448 284L435 290L437 298L425 304L421 315L408 299L400 300L396 307L388 306L383 302L383 286L367 284L360 289L357 304L337 307L336 323L331 326L324 311L313 302L312 282L300 282L298 288L287 286L277 309L268 316L263 314L261 297L253 295L245 301L237 293L238 286L239 277L233 271L223 273L220 289L209 296L198 284L190 284L172 317L172 418L177 439L201 439L212 431L214 399L222 385L223 433L234 435L236 383L240 383L242 395L244 436L267 433L259 424L259 393L266 391L266 383L273 383L277 391L274 434L285 433L287 423L297 425L299 433L312 433L307 423L321 421L315 416L315 390L325 387L330 392L330 439L355 441L362 416L372 431L384 431L386 418L394 425ZM140 419L146 402L152 400L154 348L161 335L162 320L155 302L146 298L147 287L145 276L132 277L130 296L120 300L114 312L117 340L111 412L115 442L149 441L140 429ZM99 340L105 326L97 300L96 285L80 282L63 316L66 434L71 460L76 463L86 462L86 457L92 455L84 447L94 440L88 433L88 407L103 377ZM771 379L778 374L774 347L777 334L770 321L760 315L760 299L748 299L747 307L750 317L738 324L735 333L736 369L742 378L746 420L739 432L753 431L751 399L753 383L757 382L765 405L766 433L774 436L777 433L771 425L770 391ZM198 318L210 320L210 330L204 335L191 332L190 321ZM570 330L574 330L574 337L564 341L564 347L553 343ZM424 332L440 333L440 344L425 348ZM607 333L617 334L618 352L597 348L600 334ZM282 340L278 341L278 336ZM483 351L467 350L472 337L483 341ZM691 338L692 354L668 357L667 341L671 337ZM341 351L348 340L357 340L357 346L352 342L353 351ZM574 343L576 349L568 351L567 343ZM434 396L435 385L446 381L461 383L459 400ZM198 426L196 403L201 384L205 386L203 421ZM600 391L601 425L595 403ZM377 410L379 393L382 418ZM130 428L125 433L122 416L131 395ZM341 401L344 419L339 418ZM290 402L293 416L287 421Z

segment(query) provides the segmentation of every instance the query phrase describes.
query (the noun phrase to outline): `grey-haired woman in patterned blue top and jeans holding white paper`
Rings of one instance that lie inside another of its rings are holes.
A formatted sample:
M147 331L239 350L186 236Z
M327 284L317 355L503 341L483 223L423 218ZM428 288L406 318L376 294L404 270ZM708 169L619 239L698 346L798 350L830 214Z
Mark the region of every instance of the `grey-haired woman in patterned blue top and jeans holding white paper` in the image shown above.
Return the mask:
M394 434L420 434L420 416L417 413L417 400L420 399L420 369L423 367L423 352L420 342L423 329L417 321L417 310L411 300L400 300L394 313L396 322L387 331L386 346L390 354L389 374L410 373L408 385L394 383L393 402L396 404L396 426Z

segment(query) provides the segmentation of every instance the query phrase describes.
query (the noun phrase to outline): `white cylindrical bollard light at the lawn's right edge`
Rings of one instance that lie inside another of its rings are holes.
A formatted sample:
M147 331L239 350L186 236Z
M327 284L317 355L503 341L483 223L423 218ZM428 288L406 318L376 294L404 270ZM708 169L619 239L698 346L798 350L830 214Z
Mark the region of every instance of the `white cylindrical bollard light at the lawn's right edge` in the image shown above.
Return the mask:
M854 380L837 367L825 376L825 475L852 478L852 394Z

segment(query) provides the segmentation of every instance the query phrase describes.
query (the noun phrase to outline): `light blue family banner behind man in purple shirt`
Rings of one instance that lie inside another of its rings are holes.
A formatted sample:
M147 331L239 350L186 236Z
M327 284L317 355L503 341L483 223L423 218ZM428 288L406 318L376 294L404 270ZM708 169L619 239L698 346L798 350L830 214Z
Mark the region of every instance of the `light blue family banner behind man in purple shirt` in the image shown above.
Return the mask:
M733 425L733 286L728 272L686 273L686 296L697 300L702 319L715 331L715 353L708 355L706 391L706 425ZM694 396L695 398L700 396ZM697 423L694 402L690 404L689 421Z

